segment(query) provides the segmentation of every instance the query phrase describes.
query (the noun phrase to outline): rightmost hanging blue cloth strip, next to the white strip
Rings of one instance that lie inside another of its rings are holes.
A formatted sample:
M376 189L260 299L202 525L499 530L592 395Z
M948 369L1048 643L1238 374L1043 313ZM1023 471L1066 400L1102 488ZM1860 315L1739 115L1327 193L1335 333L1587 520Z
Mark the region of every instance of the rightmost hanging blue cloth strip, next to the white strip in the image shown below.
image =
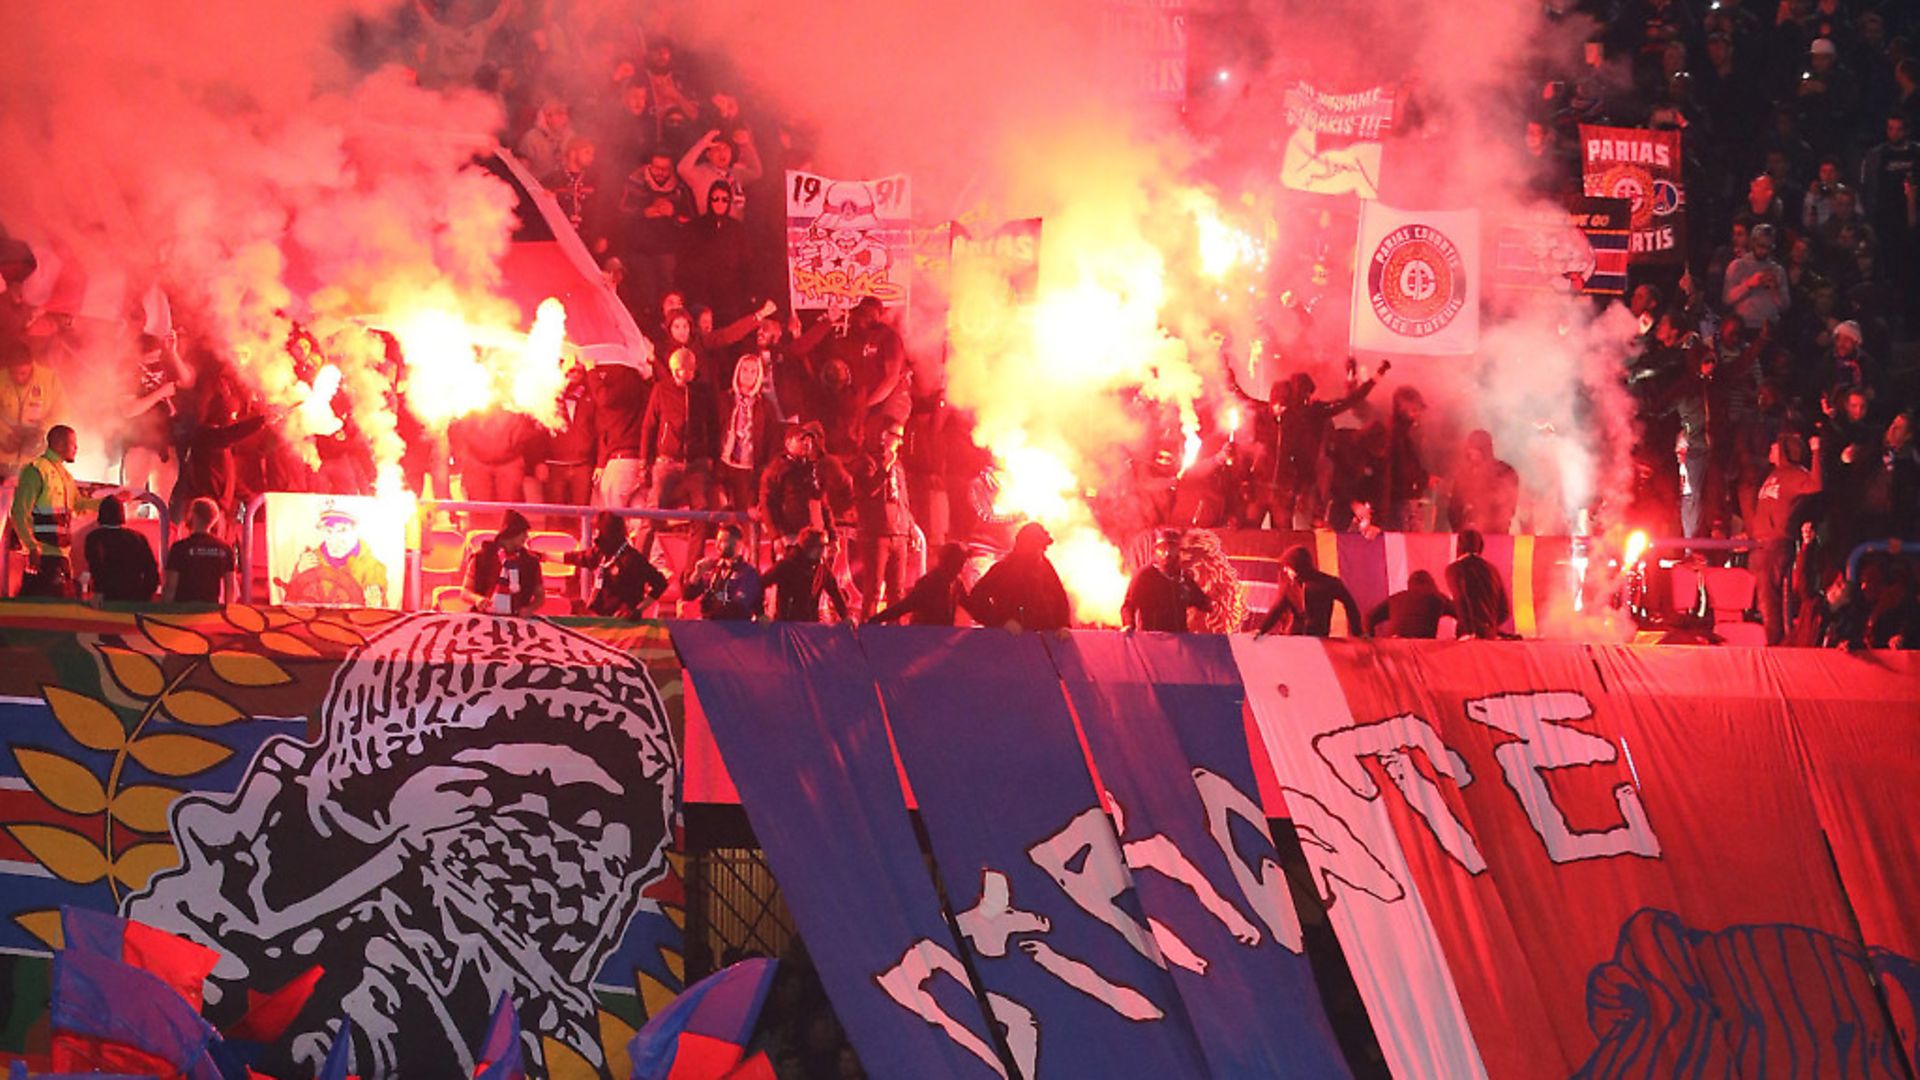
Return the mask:
M1212 1074L1348 1076L1260 809L1227 638L1075 634L1050 650Z

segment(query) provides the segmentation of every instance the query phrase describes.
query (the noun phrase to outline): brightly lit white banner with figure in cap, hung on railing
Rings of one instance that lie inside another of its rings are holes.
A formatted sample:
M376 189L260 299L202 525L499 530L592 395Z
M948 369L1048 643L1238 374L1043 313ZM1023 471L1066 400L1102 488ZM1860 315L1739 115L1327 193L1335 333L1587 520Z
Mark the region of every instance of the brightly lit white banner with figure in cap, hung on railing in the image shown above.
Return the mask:
M267 494L273 603L399 609L407 509L372 496Z

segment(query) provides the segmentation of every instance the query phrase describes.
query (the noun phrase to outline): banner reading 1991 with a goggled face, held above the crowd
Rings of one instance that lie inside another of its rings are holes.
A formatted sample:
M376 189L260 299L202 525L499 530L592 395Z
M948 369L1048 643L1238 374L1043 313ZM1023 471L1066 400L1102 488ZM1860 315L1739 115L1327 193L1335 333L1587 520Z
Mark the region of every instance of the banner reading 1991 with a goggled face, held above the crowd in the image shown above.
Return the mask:
M795 311L839 313L868 296L904 307L912 286L904 175L835 181L787 171L787 292Z

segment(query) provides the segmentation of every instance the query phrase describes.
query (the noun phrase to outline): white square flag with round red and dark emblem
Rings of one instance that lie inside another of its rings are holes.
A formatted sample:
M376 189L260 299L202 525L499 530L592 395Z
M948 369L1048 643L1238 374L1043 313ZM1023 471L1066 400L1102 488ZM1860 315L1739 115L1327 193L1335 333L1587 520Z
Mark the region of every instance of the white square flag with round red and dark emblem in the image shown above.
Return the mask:
M1359 208L1352 348L1467 356L1480 344L1480 211Z

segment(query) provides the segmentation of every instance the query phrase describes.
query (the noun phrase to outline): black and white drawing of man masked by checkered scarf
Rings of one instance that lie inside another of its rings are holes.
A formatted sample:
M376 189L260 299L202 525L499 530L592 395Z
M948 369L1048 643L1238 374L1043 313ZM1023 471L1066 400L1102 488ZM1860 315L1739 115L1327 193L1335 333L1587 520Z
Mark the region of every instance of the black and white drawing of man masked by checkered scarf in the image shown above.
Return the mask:
M346 1017L361 1076L470 1076L505 994L530 1063L545 1038L605 1074L593 982L666 872L676 776L634 655L534 619L399 619L340 665L315 742L175 805L180 867L127 915L221 951L215 1020L324 965L273 1072L309 1074Z

